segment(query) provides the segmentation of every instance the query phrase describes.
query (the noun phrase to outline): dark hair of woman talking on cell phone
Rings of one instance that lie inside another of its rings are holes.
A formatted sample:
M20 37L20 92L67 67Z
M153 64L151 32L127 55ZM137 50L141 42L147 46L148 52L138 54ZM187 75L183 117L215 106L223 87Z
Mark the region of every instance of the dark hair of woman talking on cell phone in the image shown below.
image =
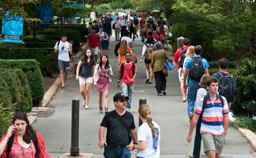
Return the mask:
M34 133L33 127L29 124L28 117L24 112L16 112L16 114L13 116L13 124L14 122L19 119L19 120L24 120L28 125L26 126L26 131L25 134L23 135L23 141L26 143L31 143L32 135Z

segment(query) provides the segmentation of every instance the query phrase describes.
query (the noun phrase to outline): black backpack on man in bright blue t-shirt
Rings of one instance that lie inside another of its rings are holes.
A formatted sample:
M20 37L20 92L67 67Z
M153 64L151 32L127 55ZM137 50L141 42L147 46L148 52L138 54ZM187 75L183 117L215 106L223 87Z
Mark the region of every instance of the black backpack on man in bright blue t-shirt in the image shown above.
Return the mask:
M201 77L204 75L204 64L202 57L195 58L192 57L191 65L189 67L188 78L191 80L200 81Z

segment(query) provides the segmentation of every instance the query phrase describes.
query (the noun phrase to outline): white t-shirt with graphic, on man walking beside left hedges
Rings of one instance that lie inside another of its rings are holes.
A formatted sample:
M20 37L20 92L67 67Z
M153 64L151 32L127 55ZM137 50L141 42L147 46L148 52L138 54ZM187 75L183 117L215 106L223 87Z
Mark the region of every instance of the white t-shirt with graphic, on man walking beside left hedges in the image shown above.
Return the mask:
M54 49L58 49L58 42L56 42ZM69 42L60 42L59 44L59 56L58 59L62 60L62 61L69 61L69 51L70 51L70 47L69 47Z

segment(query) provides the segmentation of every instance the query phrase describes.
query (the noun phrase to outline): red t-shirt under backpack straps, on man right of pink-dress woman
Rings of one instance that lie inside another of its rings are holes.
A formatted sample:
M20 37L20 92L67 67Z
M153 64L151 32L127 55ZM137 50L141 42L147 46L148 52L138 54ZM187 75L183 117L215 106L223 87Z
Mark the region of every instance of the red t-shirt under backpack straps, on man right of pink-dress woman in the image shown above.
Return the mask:
M121 64L119 66L119 71L121 71ZM134 72L137 72L137 66L135 64L134 67ZM123 76L121 78L121 82L122 83L126 83L128 85L133 85L135 84L135 80L133 82L129 82L130 79L133 78L133 74L132 74L132 62L130 63L126 63L126 61L124 62L124 72L123 72Z

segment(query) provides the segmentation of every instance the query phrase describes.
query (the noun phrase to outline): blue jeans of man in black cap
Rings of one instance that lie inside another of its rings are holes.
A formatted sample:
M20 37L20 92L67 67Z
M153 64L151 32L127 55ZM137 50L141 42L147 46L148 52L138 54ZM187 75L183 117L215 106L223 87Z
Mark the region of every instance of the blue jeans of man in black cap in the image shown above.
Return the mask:
M111 147L104 148L104 158L130 158L130 150L128 147Z

